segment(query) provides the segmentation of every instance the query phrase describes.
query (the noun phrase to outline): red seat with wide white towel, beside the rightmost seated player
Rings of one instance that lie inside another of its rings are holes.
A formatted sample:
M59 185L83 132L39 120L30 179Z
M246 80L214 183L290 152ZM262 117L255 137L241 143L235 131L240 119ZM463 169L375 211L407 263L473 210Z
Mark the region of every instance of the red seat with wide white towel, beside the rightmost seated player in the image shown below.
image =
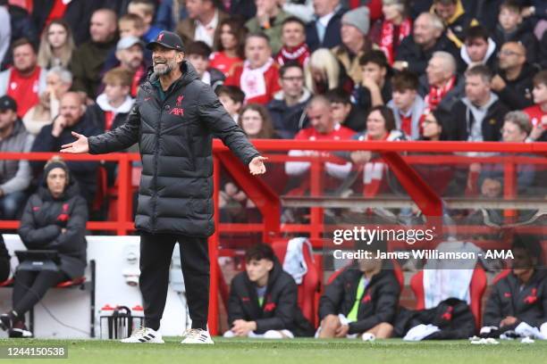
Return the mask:
M470 309L475 316L476 327L481 327L483 295L486 290L487 279L486 273L482 267L476 267L471 277L469 284L469 295L471 296ZM416 310L425 309L425 293L424 293L424 271L420 270L410 278L410 288L416 296Z

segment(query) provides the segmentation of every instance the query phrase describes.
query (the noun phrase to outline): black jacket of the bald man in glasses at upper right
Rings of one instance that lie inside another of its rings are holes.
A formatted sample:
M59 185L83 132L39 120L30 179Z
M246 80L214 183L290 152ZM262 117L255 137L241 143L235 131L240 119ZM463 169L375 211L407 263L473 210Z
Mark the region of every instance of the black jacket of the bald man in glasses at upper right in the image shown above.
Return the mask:
M532 90L534 89L534 75L538 70L529 63L525 63L517 79L509 80L503 70L498 74L506 83L506 87L498 93L503 103L511 110L522 110L534 104Z

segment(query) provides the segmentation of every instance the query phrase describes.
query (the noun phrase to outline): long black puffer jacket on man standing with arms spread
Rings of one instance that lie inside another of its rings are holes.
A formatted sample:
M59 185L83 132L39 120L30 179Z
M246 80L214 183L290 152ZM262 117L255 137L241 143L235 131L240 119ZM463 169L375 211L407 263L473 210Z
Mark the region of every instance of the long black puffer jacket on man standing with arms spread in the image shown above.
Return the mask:
M135 225L147 233L210 236L213 220L213 136L246 165L258 152L189 62L162 101L152 70L120 128L89 137L89 153L139 143L142 176Z

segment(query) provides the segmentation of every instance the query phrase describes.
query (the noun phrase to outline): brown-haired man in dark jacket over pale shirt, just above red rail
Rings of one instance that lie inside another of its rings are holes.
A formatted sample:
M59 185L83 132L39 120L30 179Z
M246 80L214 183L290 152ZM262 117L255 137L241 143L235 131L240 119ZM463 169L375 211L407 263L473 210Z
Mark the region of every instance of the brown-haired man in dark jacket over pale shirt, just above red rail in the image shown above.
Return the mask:
M455 120L458 140L497 142L501 139L503 118L509 112L492 93L492 71L484 65L466 71L466 96L450 113Z

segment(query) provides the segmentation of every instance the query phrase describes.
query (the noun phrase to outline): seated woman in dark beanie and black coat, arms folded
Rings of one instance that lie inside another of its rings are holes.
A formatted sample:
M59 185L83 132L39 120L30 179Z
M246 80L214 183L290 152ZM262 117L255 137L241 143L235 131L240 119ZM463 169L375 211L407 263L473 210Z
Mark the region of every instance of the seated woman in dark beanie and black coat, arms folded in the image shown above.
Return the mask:
M55 285L82 277L86 268L88 221L86 201L78 193L66 164L52 159L44 168L44 182L29 198L21 218L19 235L29 250L59 253L57 271L18 270L13 283L12 310L0 315L0 326L10 337L30 337L25 313Z

